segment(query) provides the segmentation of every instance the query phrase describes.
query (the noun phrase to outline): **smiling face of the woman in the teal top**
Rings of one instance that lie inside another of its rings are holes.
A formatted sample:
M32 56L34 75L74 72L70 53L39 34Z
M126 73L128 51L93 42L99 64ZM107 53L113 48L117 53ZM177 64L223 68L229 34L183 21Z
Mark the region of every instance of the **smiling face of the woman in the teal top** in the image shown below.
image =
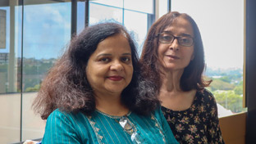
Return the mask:
M122 34L116 34L98 43L89 57L86 77L94 94L121 94L133 74L130 44Z

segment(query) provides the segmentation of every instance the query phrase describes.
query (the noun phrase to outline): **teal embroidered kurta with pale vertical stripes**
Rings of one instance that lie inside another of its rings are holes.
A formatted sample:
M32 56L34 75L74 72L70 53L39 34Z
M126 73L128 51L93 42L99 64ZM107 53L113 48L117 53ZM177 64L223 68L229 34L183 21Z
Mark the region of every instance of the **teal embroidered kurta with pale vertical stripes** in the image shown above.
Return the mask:
M135 125L141 143L178 144L160 109L144 116L130 112L126 116ZM92 115L67 113L54 110L48 116L42 143L133 143L118 121L121 116L112 116L95 110Z

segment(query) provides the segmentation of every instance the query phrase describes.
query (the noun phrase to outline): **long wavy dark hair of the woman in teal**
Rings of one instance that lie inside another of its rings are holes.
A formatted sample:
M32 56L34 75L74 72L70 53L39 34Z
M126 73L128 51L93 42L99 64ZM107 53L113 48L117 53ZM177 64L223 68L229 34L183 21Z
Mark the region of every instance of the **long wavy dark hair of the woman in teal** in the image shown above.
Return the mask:
M150 94L153 89L139 76L139 58L130 34L122 25L103 23L89 26L72 38L66 52L49 70L33 103L35 112L42 119L47 119L57 108L67 112L80 111L85 115L95 110L94 92L86 79L85 68L98 43L115 34L127 38L134 68L130 84L121 93L121 102L139 115L147 115L158 107L159 101Z

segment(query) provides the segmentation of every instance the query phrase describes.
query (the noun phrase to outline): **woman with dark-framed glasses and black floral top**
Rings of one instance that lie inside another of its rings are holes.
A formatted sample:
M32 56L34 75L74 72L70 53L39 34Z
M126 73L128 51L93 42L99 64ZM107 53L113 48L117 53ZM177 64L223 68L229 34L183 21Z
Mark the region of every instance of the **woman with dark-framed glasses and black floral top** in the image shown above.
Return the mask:
M224 143L216 101L205 89L211 81L202 75L203 42L190 16L173 11L153 23L140 62L178 142Z

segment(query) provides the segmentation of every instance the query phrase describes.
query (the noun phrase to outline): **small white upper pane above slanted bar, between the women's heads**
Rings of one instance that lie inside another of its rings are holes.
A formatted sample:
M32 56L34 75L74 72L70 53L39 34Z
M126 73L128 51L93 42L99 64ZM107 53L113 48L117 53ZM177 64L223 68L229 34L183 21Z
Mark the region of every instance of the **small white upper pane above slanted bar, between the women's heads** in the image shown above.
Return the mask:
M153 14L153 0L124 0L124 2L126 10Z

